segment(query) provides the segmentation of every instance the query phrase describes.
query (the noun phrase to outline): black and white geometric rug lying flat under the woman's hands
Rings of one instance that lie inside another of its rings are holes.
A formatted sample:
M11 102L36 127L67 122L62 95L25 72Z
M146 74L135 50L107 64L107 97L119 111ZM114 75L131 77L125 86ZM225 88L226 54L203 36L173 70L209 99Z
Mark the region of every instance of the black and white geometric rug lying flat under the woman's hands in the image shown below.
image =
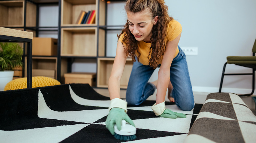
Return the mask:
M203 104L192 111L181 111L174 103L166 108L187 118L167 119L155 116L146 101L128 106L128 115L137 127L132 143L181 143L188 135ZM110 99L88 84L64 84L0 92L1 143L98 143L117 140L105 127Z

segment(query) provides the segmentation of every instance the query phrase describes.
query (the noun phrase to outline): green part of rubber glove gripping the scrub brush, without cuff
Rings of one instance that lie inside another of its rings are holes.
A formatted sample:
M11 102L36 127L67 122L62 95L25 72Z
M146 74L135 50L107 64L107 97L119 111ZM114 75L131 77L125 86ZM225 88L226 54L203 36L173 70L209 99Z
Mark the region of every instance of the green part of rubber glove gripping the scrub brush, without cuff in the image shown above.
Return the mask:
M123 119L135 127L133 120L130 119L130 117L125 113L124 109L114 107L109 111L105 123L106 123L106 127L108 128L108 130L112 135L115 135L115 132L114 132L115 124L117 125L117 129L121 130Z

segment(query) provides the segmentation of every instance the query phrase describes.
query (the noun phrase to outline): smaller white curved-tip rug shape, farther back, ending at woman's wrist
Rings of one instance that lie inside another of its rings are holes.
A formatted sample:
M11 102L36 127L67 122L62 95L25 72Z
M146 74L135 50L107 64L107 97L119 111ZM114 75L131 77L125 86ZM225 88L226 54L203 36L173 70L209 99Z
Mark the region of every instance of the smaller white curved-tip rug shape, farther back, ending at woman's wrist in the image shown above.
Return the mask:
M69 90L70 90L71 98L80 105L107 107L107 108L110 106L110 100L88 100L88 99L84 99L77 96L75 92L72 90L71 86L69 86Z

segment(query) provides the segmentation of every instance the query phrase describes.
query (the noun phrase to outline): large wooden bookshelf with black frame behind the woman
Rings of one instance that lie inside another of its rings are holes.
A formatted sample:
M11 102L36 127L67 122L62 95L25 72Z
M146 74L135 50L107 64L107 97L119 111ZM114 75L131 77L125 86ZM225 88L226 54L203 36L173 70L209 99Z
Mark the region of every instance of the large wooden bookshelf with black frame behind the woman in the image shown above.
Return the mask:
M76 59L88 63L93 61L96 65L94 69L96 87L107 88L114 57L106 56L106 35L109 30L120 30L122 27L106 24L107 6L110 1L123 2L123 0L0 0L0 16L6 19L0 21L0 26L30 31L34 33L34 37L38 37L40 31L57 32L57 56L33 55L32 69L36 72L52 70L54 78L64 84L64 74L72 72L72 64ZM58 25L39 26L40 5L58 6ZM95 10L95 20L91 24L77 23L82 10L85 12ZM24 60L26 54L24 52ZM127 87L132 64L133 62L128 59L121 88ZM24 74L23 77L25 76Z

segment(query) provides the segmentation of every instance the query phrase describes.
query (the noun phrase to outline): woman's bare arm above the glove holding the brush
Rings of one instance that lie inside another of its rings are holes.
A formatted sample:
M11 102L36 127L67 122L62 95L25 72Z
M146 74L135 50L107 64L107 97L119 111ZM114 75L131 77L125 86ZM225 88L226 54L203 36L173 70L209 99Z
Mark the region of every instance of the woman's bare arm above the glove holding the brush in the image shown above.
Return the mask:
M117 54L114 60L111 75L108 80L108 90L110 99L120 98L120 80L123 74L125 62L127 59L125 47L123 44L117 42Z

